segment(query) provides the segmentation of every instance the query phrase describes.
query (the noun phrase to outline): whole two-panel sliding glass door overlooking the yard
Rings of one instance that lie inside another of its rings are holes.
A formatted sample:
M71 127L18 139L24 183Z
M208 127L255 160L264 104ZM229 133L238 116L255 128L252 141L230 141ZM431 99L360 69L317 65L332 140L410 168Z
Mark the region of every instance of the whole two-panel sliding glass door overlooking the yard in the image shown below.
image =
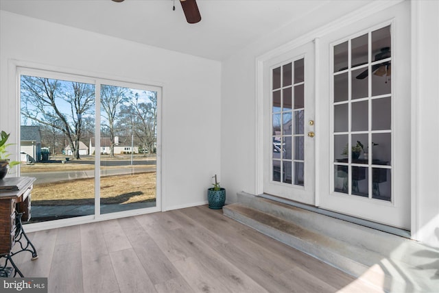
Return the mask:
M24 69L20 84L33 222L156 207L160 88Z

